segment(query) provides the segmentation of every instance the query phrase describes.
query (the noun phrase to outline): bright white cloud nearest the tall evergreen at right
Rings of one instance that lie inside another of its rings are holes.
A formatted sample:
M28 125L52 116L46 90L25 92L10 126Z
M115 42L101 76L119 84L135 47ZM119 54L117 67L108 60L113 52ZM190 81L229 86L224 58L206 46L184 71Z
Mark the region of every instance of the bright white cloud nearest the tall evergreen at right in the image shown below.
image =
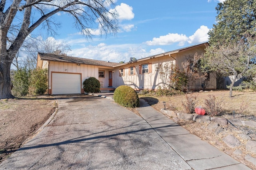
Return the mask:
M209 32L209 28L207 26L202 25L199 29L196 30L196 32L189 36L188 43L204 43L207 42L209 39L209 35L207 34Z

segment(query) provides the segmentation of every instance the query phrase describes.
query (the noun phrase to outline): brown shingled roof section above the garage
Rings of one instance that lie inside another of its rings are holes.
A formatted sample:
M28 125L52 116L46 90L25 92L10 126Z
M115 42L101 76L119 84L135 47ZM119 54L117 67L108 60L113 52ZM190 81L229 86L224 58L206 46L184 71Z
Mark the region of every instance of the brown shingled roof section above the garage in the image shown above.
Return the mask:
M48 54L48 53L38 53L40 60L45 61L58 61L64 63L77 63L77 64L89 64L97 66L110 66L113 67L119 63L113 63L108 61L92 60L92 59L83 59L78 57L69 57L64 55Z

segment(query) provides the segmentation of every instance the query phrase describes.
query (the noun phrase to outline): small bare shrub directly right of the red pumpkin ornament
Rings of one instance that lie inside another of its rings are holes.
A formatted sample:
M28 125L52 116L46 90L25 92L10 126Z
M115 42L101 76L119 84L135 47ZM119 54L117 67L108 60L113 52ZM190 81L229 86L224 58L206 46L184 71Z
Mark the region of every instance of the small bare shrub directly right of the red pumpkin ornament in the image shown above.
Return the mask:
M218 100L214 95L207 95L209 99L204 101L205 112L210 116L218 116L222 113L222 102L224 101L224 96Z

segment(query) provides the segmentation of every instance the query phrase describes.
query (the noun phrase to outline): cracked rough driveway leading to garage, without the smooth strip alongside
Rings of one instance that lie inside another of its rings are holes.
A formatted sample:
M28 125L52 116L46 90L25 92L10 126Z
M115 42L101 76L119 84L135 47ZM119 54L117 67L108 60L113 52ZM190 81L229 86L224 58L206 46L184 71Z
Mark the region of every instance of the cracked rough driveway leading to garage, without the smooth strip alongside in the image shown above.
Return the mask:
M192 169L141 117L98 96L56 96L58 112L0 169Z

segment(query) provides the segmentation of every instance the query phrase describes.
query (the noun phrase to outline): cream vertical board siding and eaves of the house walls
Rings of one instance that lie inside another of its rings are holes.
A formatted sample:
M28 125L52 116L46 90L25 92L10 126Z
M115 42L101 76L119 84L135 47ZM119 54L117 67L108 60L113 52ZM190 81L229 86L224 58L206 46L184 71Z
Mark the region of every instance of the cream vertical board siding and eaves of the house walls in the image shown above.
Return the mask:
M195 53L198 53L198 55L201 55L204 53L204 47L196 47L192 49L185 49L181 50L175 54L171 54L171 57L169 55L156 57L151 57L150 59L145 59L144 61L134 61L133 63L126 63L122 66L117 67L104 67L101 68L100 66L94 66L94 65L86 65L86 64L74 64L74 63L60 63L60 62L49 62L44 61L43 66L45 68L48 68L49 72L49 84L51 84L51 72L65 72L65 73L81 73L82 75L82 82L84 82L85 79L89 77L95 77L98 80L100 80L103 84L103 87L108 87L108 72L114 70L112 73L112 86L118 87L121 85L128 85L134 89L157 89L158 86L163 87L162 80L160 79L160 76L157 72L157 67L159 64L166 64L173 63L178 65L178 67L183 70L182 68L182 62L186 60L186 57L189 55L194 55ZM142 64L151 64L151 72L150 72L150 66L148 67L149 73L141 74L140 67ZM134 75L129 74L129 68L130 66L134 66ZM120 68L124 68L124 76L119 75ZM98 77L98 70L104 70L105 71L105 77L99 78ZM214 73L210 73L210 79L205 80L206 82L206 88L214 89L216 88L216 78L214 76ZM202 84L202 80L198 80L194 84L194 89L200 89ZM51 87L49 86L49 89Z

